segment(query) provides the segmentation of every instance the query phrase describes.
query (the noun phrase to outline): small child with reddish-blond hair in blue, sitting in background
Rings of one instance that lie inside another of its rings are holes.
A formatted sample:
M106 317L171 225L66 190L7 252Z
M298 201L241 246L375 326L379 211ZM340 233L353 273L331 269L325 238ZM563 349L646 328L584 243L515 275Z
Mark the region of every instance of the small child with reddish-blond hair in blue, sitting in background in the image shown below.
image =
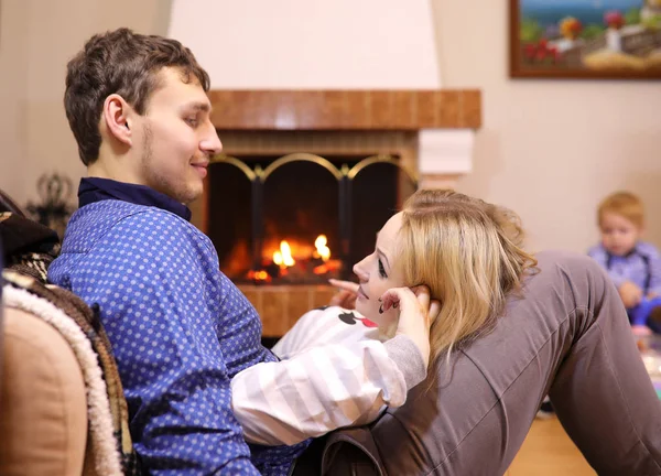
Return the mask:
M650 334L661 322L661 257L640 239L644 209L629 192L607 196L597 210L602 242L588 255L608 271L627 309L636 334Z

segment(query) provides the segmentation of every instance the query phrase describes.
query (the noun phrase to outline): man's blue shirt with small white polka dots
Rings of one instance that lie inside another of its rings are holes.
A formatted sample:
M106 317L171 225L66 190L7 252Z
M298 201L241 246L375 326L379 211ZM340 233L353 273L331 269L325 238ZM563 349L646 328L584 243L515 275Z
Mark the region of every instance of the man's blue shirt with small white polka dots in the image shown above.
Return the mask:
M275 357L205 235L163 207L97 201L69 220L48 279L99 305L149 474L288 474L308 442L248 445L232 414L231 377Z

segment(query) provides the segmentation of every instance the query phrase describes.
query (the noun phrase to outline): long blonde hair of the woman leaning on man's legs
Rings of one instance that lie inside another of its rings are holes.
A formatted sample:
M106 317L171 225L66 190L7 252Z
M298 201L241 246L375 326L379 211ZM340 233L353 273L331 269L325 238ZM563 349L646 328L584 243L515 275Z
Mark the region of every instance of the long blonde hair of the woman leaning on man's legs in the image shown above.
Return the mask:
M511 210L452 191L419 191L404 204L399 256L404 280L441 301L431 361L487 329L537 260L521 249Z

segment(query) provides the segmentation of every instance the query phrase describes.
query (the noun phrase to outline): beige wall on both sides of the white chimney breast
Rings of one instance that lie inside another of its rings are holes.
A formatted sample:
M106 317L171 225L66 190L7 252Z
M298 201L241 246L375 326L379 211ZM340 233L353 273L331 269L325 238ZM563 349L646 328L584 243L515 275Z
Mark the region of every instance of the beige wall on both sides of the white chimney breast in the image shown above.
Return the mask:
M1 1L0 187L24 203L41 173L84 172L62 108L66 61L97 31L164 33L170 2ZM535 248L582 251L599 198L628 187L661 245L661 84L510 80L508 1L432 2L443 86L484 91L475 170L459 188L518 210Z

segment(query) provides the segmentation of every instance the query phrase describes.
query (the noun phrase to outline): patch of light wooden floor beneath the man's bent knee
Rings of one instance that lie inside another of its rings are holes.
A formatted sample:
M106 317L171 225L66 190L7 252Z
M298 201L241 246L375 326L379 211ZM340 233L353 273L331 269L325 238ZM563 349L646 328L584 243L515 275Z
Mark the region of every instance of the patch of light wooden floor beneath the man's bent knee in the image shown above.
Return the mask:
M556 418L535 420L506 476L594 476Z

